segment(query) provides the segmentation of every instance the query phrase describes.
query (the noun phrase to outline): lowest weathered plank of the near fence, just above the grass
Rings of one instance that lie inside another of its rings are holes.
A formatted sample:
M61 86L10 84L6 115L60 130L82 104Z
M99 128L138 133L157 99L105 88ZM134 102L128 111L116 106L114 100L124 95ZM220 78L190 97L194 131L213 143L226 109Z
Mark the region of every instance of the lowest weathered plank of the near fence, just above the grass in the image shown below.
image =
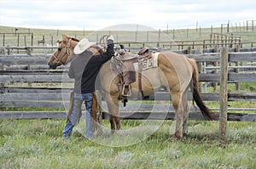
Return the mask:
M103 119L108 119L108 112L102 113ZM216 113L218 117L218 114ZM0 119L66 119L67 113L65 111L2 111L0 112ZM135 112L135 113L120 113L121 120L175 120L173 112L168 113L152 113L152 112ZM82 119L85 118L84 112ZM203 116L199 112L189 113L189 121L204 121ZM248 113L228 113L228 121L256 121L256 114Z

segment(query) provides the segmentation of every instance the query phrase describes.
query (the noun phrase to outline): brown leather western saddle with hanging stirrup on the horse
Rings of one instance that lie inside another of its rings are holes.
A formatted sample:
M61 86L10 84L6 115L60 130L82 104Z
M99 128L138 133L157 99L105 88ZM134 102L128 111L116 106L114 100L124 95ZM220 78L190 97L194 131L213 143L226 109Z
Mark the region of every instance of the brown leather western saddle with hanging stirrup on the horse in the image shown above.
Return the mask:
M131 54L125 52L125 49L119 49L118 54L111 60L113 70L119 73L121 96L124 98L124 106L125 103L128 101L127 97L131 96L131 83L136 82L136 70L134 67L134 63L138 64L139 93L141 93L142 97L144 98L142 89L143 60L151 58L152 53L149 52L149 48L141 49L138 54Z

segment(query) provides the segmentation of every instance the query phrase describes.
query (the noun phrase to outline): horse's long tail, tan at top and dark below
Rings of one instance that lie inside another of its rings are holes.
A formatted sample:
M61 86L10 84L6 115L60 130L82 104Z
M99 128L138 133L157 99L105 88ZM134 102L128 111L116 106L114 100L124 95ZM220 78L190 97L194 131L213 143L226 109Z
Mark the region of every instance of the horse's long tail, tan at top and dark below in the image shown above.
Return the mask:
M207 121L215 120L216 117L214 113L212 113L212 111L207 108L206 104L204 104L201 98L201 93L198 90L198 71L197 71L197 66L195 64L195 60L189 59L189 63L193 67L193 74L190 82L190 89L191 89L191 92L193 93L193 99L195 100L195 104L199 107L202 115L205 117Z

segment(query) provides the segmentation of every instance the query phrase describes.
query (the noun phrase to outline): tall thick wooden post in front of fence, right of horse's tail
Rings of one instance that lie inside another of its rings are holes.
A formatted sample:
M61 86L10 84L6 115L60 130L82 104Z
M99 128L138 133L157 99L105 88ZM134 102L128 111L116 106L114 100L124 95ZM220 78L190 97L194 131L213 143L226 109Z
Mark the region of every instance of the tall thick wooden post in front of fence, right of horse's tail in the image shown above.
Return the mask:
M229 48L223 47L220 50L220 112L219 112L219 130L220 138L223 144L226 143L227 132L227 111L228 111L228 58Z

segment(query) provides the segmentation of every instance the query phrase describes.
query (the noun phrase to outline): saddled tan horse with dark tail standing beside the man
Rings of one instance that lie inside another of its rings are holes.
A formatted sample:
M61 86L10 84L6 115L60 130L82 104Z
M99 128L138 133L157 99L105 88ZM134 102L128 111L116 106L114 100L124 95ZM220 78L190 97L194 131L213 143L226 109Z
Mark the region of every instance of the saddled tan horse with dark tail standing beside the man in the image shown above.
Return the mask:
M65 65L73 57L73 48L78 43L77 39L62 35L62 41L55 54L49 58L49 68L55 69L59 65ZM92 47L95 48L95 47ZM100 54L95 48L96 54ZM95 53L94 53L95 54ZM152 55L152 53L151 53ZM119 122L119 72L111 69L112 62L109 60L99 72L101 83L100 93L108 105L109 121L112 133L120 130ZM143 90L143 95L148 96L160 87L165 86L172 98L175 110L176 130L174 138L183 139L188 135L189 104L187 93L190 88L193 100L201 110L201 114L207 121L215 120L215 115L204 104L198 89L198 70L194 59L189 59L182 54L172 52L160 52L157 58L157 67L142 72L142 86L138 78L131 83L133 91ZM136 77L139 72L135 72Z

